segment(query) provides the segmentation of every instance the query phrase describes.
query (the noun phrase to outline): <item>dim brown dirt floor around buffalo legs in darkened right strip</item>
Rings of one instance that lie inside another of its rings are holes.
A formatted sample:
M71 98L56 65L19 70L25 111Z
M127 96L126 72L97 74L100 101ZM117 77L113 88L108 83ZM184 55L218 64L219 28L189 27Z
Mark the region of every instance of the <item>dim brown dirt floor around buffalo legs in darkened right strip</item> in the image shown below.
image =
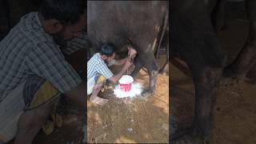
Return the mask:
M229 62L242 48L248 29L242 3L233 6L231 12L228 29L219 33ZM174 114L174 124L178 127L190 126L194 114L192 79L175 66L170 66L170 74L170 110ZM219 86L214 119L214 144L256 143L255 88L255 85L246 81L231 86Z

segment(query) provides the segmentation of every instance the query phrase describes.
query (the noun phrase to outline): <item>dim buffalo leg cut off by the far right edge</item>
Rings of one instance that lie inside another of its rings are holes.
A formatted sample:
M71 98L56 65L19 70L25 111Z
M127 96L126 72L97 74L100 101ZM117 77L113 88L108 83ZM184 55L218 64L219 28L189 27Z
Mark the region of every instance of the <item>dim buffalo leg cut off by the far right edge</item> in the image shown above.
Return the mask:
M246 44L234 62L225 68L223 74L226 78L236 78L238 82L241 82L250 68L256 64L256 1L247 0L246 10L250 20Z

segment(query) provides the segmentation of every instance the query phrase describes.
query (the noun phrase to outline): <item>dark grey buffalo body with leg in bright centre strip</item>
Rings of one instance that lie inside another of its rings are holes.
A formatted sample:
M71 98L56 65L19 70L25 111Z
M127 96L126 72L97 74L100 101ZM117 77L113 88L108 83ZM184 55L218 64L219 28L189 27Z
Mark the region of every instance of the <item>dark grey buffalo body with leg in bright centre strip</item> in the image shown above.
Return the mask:
M167 12L166 1L88 1L87 32L94 48L111 42L125 50L133 46L138 51L134 59L133 76L142 67L150 74L150 91L154 92L158 63L154 58L159 35Z

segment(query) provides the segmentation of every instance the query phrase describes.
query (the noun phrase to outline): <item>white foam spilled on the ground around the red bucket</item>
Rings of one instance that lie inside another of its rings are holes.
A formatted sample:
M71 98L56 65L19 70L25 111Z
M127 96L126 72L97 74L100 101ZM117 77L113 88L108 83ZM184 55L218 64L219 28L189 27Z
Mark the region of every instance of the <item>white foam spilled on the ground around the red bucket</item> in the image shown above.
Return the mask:
M128 92L124 92L119 89L119 86L114 87L114 94L116 95L117 98L126 98L130 97L133 98L136 95L142 94L142 85L139 84L138 82L133 82L131 84L131 89Z

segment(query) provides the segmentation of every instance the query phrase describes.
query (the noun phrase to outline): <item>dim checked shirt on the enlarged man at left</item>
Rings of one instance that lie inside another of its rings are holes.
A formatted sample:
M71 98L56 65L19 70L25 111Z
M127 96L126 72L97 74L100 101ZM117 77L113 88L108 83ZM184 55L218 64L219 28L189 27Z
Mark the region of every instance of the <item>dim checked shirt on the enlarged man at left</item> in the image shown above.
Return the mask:
M61 93L82 82L44 31L37 12L23 16L0 42L0 102L32 74L50 81Z

